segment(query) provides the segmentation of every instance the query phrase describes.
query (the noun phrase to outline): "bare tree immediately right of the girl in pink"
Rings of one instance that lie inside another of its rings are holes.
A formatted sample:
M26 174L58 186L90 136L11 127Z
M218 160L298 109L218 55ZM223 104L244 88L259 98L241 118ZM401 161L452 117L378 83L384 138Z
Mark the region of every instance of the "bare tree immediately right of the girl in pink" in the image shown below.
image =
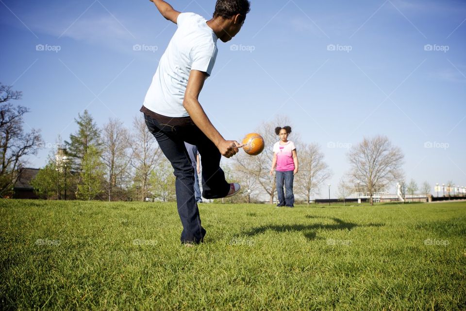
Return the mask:
M304 195L309 205L311 195L319 191L319 186L332 176L332 171L324 161L324 154L317 144L297 146L300 159L300 172L295 177L297 192Z

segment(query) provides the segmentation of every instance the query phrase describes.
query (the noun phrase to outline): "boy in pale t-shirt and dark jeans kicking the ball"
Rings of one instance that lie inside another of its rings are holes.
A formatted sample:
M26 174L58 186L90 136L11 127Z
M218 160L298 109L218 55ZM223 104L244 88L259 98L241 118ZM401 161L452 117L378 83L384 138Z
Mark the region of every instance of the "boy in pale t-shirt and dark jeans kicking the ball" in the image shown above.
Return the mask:
M181 242L200 243L205 236L195 201L194 168L184 142L198 147L202 163L202 196L206 199L231 196L239 185L229 184L220 169L221 156L231 157L242 147L226 140L205 114L198 98L204 81L212 73L217 39L230 41L250 11L248 0L217 0L213 18L180 13L163 0L150 0L166 19L178 25L160 59L140 111L176 176L176 201L183 224Z

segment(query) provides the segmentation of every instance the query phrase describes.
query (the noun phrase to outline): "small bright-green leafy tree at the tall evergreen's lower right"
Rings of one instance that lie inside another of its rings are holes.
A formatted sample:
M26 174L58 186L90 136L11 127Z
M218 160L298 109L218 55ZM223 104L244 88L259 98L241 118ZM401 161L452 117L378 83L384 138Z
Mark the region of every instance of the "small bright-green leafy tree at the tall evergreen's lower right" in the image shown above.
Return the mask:
M87 147L81 163L77 197L81 200L95 199L102 192L105 168L100 159L100 151L93 145Z

